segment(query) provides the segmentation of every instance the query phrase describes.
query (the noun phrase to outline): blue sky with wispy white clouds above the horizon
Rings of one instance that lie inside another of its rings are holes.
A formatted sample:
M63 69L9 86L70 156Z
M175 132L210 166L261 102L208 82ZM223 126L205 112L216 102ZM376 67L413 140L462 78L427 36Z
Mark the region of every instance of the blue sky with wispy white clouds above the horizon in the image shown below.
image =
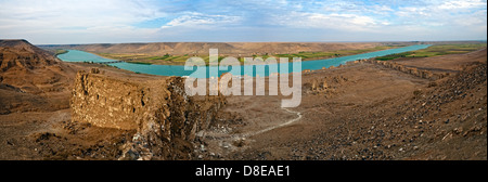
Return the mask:
M486 0L0 0L35 44L486 40Z

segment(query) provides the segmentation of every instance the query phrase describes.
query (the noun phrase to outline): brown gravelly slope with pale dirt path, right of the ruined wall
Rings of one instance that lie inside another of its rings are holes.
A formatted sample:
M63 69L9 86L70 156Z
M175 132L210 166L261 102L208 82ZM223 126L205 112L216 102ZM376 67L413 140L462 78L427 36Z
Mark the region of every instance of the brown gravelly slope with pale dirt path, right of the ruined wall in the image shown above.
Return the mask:
M221 122L202 140L200 156L486 160L486 53L364 61L304 73L296 108L281 108L279 96L229 96ZM445 77L419 74L432 72Z

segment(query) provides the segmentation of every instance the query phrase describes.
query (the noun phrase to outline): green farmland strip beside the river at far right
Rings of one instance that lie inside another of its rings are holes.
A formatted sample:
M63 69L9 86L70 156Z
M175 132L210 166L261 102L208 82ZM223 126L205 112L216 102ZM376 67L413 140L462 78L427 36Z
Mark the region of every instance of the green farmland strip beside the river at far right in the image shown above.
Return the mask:
M486 48L486 43L436 44L423 50L380 56L376 57L376 60L389 61L400 57L431 57L447 54L464 54L483 48Z

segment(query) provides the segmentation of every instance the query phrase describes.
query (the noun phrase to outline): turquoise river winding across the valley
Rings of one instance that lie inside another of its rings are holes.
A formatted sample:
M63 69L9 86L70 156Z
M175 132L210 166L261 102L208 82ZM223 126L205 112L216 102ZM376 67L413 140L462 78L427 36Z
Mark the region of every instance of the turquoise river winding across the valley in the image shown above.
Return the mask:
M376 52L370 52L370 53L363 53L363 54L357 54L357 55L348 55L343 57L335 57L335 58L326 58L326 60L316 60L316 61L306 61L301 62L301 68L298 68L299 70L293 70L293 64L274 64L274 65L256 65L256 69L262 68L266 70L265 73L256 73L256 70L253 69L251 65L246 66L239 66L239 68L233 68L231 70L219 70L218 74L208 74L210 73L209 69L217 69L217 67L209 67L206 66L206 72L198 72L195 73L196 66L193 67L193 69L184 70L184 66L181 65L144 65L144 64L132 64L132 63L112 63L108 65L116 66L121 69L131 70L134 73L142 73L142 74L150 74L150 75L160 75L160 76L192 76L197 78L208 78L208 77L217 77L220 76L223 73L230 72L233 75L259 75L259 76L269 76L273 73L279 73L282 66L288 66L287 70L282 70L283 73L291 73L291 72L301 72L304 69L310 69L310 70L317 70L322 69L322 67L331 67L331 66L339 66L341 64L345 64L350 61L357 61L357 60L363 60L363 58L372 58L376 56L384 56L388 54L394 53L402 53L408 51L415 51L421 50L431 47L431 44L415 44L410 47L403 47L403 48L397 48L397 49L389 49L384 51L376 51ZM93 63L104 63L104 62L114 62L114 60L103 58L101 56L84 52L84 51L77 51L77 50L68 50L67 53L57 55L62 61L66 62L93 62ZM198 70L205 70L205 69L198 69ZM277 72L269 72L269 70L277 70ZM216 73L216 72L211 72Z

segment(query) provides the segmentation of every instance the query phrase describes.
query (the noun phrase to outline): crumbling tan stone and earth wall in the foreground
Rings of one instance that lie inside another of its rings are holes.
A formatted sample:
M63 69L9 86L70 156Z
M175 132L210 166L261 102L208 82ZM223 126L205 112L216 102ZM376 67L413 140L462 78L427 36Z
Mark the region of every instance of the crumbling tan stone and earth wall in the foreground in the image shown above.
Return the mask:
M223 96L188 96L179 77L133 80L77 74L72 120L136 130L120 159L191 159L196 133L208 128Z

